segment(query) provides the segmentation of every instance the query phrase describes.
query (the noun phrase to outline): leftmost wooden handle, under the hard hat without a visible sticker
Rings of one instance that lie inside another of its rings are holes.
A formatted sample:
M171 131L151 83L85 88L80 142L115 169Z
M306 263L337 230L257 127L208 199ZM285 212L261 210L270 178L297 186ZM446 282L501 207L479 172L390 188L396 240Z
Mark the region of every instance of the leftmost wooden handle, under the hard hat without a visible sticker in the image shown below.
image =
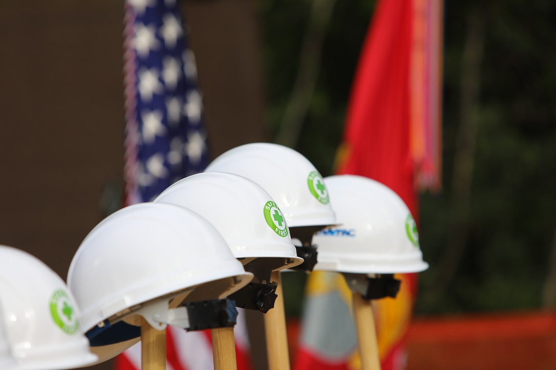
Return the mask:
M141 317L141 369L166 370L166 329L157 330Z

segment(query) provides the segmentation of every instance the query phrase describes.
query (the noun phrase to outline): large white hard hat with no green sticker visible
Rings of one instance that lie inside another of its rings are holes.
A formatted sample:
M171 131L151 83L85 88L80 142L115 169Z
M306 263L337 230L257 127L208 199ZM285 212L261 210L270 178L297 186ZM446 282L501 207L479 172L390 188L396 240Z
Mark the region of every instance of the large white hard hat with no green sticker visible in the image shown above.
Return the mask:
M68 286L92 351L106 361L140 339L138 327L123 319L140 315L163 329L154 317L173 298L180 300L175 306L225 298L252 277L199 214L173 204L141 203L92 229L69 266Z

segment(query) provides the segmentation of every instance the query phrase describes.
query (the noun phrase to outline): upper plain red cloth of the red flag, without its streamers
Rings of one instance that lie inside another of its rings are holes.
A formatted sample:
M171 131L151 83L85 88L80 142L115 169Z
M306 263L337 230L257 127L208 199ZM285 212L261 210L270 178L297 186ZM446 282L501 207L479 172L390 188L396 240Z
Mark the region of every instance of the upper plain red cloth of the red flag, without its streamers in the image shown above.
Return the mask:
M409 147L411 2L380 1L361 51L337 173L390 187L415 215Z

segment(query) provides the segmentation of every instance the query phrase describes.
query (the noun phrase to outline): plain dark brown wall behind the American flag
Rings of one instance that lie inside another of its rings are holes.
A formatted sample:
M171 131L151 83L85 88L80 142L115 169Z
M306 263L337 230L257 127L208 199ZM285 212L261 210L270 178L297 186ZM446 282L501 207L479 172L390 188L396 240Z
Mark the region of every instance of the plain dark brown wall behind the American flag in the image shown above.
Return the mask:
M212 157L265 139L254 2L189 2ZM66 279L123 166L123 2L0 2L0 244ZM95 369L110 369L111 362Z

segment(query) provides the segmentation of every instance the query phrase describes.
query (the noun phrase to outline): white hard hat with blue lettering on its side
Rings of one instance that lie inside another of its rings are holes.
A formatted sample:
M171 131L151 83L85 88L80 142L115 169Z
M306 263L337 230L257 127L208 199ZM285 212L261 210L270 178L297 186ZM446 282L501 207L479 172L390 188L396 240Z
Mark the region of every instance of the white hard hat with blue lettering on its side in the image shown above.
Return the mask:
M420 272L415 221L402 199L377 181L354 175L325 178L339 226L317 232L315 270L394 274Z

